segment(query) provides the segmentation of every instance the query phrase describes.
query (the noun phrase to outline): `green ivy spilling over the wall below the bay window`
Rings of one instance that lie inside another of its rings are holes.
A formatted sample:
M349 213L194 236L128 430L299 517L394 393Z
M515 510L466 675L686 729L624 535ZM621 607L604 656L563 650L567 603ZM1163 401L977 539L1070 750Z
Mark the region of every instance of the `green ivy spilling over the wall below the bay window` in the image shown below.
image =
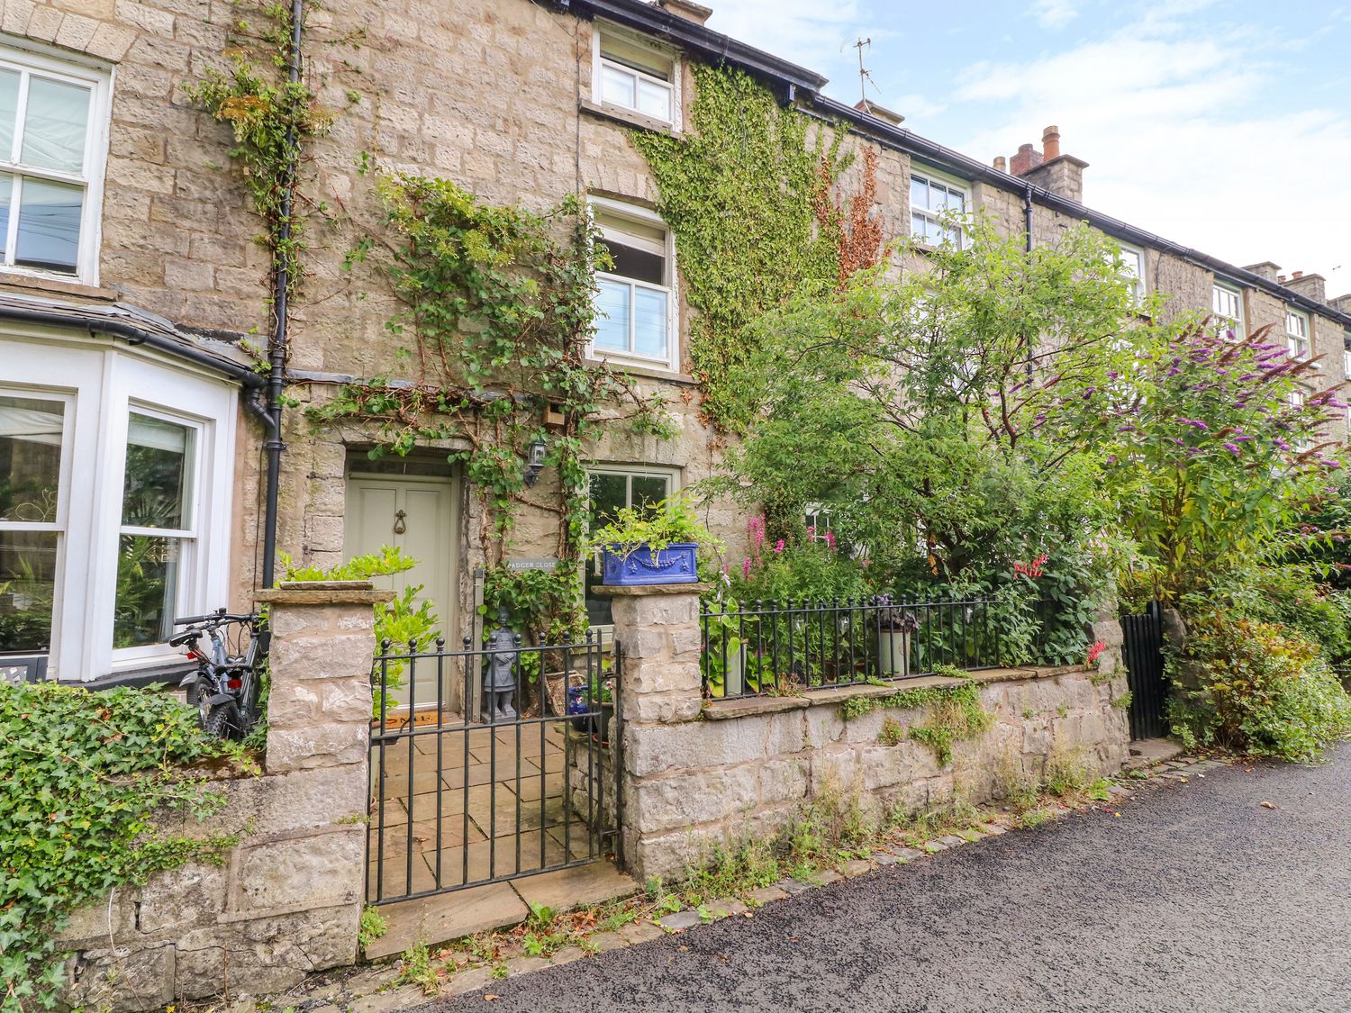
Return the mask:
M159 836L151 820L218 812L224 793L184 767L231 755L163 693L0 683L0 1006L55 1002L55 939L76 908L235 843Z

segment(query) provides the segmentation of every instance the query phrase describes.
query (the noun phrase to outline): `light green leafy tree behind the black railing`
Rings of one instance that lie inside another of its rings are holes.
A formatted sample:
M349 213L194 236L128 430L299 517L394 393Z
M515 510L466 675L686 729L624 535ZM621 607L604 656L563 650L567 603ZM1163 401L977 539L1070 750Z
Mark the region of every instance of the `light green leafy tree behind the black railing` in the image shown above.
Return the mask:
M1128 298L1086 228L1027 254L979 219L919 270L886 263L800 298L755 327L738 377L755 423L712 488L762 504L771 538L821 504L900 575L1078 551L1106 511L1077 404L1105 400Z

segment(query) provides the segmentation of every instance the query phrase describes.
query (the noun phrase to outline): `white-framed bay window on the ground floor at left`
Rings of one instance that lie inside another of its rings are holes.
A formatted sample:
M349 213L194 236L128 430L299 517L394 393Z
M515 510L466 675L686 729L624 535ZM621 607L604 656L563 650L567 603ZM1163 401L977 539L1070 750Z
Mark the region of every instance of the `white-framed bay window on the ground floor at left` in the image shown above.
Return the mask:
M226 604L238 389L92 339L0 336L0 677L181 660Z

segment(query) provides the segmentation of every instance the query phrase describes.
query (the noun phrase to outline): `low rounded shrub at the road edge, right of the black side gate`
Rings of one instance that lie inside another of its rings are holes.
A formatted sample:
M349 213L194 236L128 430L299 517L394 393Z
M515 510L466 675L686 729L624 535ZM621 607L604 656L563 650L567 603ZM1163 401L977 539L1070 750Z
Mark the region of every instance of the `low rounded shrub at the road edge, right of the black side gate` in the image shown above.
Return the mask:
M1196 620L1185 654L1169 659L1169 674L1177 683L1173 733L1188 748L1315 760L1351 733L1351 696L1317 646L1274 623Z

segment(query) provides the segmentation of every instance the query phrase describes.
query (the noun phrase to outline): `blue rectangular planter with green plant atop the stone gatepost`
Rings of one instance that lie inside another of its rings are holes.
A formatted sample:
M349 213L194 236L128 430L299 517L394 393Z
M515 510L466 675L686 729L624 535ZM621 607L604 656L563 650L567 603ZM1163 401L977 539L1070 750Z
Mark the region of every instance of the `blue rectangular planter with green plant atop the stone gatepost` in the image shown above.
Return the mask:
M713 540L690 502L676 497L646 508L626 506L592 532L588 544L601 555L604 582L628 586L696 583L696 551Z

